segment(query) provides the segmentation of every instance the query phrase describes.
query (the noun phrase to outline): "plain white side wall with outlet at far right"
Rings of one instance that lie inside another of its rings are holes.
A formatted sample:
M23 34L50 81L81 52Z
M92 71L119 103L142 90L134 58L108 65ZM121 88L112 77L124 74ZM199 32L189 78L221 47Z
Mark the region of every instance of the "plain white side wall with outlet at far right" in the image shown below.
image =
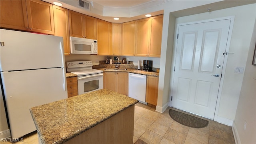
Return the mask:
M256 42L256 21L253 32L233 124L237 132L238 142L242 144L256 144L256 66L252 65ZM244 122L247 123L245 130Z

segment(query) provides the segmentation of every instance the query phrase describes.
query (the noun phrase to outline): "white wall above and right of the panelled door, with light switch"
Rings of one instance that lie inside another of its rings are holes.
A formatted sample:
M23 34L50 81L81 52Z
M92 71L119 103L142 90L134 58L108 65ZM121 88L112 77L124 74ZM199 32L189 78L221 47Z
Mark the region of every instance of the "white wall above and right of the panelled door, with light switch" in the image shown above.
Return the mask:
M256 4L249 4L176 18L176 24L180 24L184 22L235 16L229 48L229 52L234 52L234 55L228 55L226 73L223 76L224 82L218 110L219 118L224 118L231 122L234 120L236 115L236 108L244 77L244 74L234 73L234 69L235 67L245 68L246 66L250 40L252 38L254 21L256 18L255 8Z

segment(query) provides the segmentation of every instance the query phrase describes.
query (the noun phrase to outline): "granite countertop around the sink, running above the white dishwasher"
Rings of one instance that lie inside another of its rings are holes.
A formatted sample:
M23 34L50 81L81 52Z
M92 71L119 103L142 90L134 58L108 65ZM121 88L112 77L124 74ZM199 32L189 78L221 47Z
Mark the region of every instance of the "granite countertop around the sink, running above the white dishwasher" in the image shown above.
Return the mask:
M105 69L107 69L107 70L105 70ZM143 75L147 75L147 76L159 77L158 72L146 72L146 71L143 71L143 70L136 70L134 68L127 68L127 70L112 70L112 69L113 68L97 68L97 70L103 70L104 72L131 72L131 73L134 73L134 74L143 74Z

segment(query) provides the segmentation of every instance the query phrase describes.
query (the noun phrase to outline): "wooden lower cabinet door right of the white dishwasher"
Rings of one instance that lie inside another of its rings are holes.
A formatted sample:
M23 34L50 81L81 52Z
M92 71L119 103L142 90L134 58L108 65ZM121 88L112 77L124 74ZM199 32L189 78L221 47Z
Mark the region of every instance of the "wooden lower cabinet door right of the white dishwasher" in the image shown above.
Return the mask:
M146 102L157 105L158 77L147 76Z

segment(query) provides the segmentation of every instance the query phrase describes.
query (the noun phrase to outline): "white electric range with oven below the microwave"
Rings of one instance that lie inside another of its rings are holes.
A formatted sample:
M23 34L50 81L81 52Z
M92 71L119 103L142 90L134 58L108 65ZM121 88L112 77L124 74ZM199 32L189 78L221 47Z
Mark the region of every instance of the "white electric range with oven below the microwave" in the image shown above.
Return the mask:
M103 71L92 69L92 61L67 62L67 71L77 75L78 94L103 88Z

